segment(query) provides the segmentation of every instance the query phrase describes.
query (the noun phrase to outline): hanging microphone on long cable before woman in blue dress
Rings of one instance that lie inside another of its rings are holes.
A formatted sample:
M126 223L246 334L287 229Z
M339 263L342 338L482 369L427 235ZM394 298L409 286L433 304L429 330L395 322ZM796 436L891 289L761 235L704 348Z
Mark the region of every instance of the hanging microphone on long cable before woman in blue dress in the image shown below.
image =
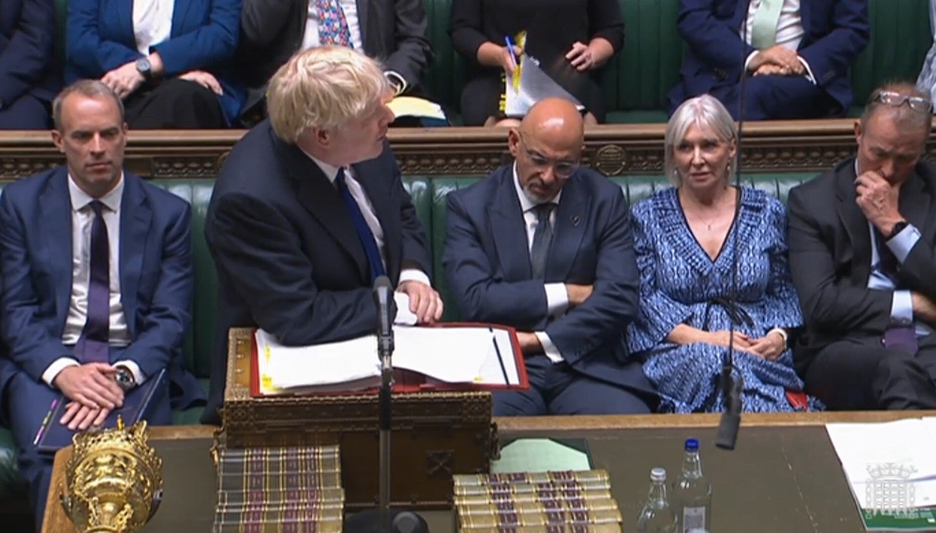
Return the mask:
M735 187L741 190L741 161L744 151L742 151L742 131L744 127L744 89L746 88L747 72L744 65L747 63L747 56L744 54L744 45L748 43L748 12L744 11L743 22L741 23L741 79L738 88L738 168L735 169ZM735 218L737 220L741 209L740 195L735 206ZM744 388L744 382L739 374L734 376L735 370L735 317L738 315L738 228L732 224L734 233L731 236L731 246L733 257L731 258L731 312L728 317L728 350L722 356L722 394L724 395L724 412L722 419L718 423L718 435L715 438L715 445L723 450L734 450L738 441L738 429L741 424L741 411L743 409L741 401L741 390Z

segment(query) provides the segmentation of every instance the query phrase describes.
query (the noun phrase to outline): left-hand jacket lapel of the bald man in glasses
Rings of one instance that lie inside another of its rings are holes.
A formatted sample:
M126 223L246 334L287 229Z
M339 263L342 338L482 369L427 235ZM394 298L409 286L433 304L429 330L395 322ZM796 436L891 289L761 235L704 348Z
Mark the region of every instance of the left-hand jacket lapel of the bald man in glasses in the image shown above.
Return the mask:
M500 185L497 197L488 208L490 233L494 248L507 281L529 280L533 277L530 265L530 245L527 241L526 223L517 190L514 187L512 166L500 170Z

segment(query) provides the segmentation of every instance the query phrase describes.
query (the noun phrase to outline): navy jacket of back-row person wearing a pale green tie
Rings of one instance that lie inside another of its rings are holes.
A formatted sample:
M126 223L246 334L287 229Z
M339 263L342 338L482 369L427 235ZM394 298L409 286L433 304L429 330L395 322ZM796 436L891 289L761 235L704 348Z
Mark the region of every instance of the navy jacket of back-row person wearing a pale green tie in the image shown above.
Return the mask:
M716 85L740 81L744 60L754 51L740 36L749 4L749 0L680 0L676 25L689 47L680 69L682 79L669 93L670 112ZM799 9L806 34L797 51L810 65L816 84L847 110L853 98L848 71L870 37L868 2L801 0Z

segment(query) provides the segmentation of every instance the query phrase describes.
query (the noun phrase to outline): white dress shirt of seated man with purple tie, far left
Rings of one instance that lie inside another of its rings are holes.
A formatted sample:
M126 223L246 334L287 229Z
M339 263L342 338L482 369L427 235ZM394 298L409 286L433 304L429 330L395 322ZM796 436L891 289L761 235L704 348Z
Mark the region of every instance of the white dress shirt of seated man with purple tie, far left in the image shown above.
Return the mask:
M68 195L71 198L71 298L68 303L68 316L62 332L62 344L73 346L81 337L81 331L88 320L88 290L91 280L91 226L95 222L95 211L91 202L95 200L81 191L71 175L68 175ZM108 228L108 254L110 257L110 346L124 347L130 344L130 331L124 317L124 304L120 292L120 207L124 195L124 177L117 186L98 198L104 207L101 216ZM70 357L56 359L42 373L42 381L52 385L52 381L65 367L78 365ZM114 365L123 365L130 369L137 384L145 376L133 361L118 361Z

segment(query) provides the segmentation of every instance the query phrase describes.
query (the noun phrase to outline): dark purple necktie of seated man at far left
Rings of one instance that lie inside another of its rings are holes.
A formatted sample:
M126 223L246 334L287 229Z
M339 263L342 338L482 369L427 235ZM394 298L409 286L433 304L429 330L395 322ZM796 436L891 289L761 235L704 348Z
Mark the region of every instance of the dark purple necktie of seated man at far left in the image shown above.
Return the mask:
M91 223L91 275L88 279L88 318L75 345L75 355L81 363L110 362L108 336L110 333L110 253L108 226L101 209L104 204L94 200L89 204L95 211Z

